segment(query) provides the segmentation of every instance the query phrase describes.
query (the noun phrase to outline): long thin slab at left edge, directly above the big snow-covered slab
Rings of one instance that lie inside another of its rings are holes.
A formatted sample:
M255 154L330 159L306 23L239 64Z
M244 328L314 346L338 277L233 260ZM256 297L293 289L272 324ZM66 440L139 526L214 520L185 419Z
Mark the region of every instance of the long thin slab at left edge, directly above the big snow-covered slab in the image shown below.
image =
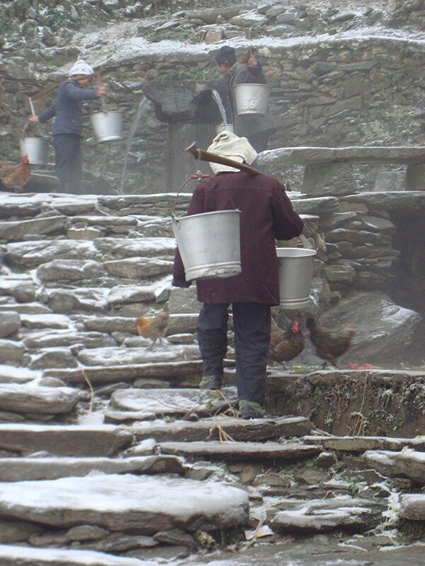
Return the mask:
M106 474L174 473L186 468L176 456L133 456L129 458L0 458L0 481L56 480L69 475L87 475L94 470Z

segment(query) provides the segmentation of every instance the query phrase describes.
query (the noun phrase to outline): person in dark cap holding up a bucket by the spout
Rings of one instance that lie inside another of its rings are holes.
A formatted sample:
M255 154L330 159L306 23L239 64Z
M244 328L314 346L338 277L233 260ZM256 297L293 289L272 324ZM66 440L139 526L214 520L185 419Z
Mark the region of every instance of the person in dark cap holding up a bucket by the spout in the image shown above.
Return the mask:
M224 98L224 105L232 114L233 131L239 137L246 137L259 154L267 148L268 137L276 132L276 127L271 116L270 108L267 107L266 114L241 114L238 115L234 87L242 83L266 84L261 63L249 51L242 62L237 62L234 47L223 45L215 54L217 69L224 77L218 91Z

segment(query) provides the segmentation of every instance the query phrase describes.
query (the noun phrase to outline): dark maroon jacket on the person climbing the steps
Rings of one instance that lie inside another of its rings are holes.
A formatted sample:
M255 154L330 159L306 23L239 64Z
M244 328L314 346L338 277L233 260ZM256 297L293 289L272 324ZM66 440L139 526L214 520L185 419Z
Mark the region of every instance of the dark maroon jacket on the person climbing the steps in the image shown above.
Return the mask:
M278 305L276 239L299 236L303 223L278 180L266 175L220 173L196 187L188 215L239 209L242 273L196 282L201 303L254 302ZM188 287L179 250L174 259L175 287Z

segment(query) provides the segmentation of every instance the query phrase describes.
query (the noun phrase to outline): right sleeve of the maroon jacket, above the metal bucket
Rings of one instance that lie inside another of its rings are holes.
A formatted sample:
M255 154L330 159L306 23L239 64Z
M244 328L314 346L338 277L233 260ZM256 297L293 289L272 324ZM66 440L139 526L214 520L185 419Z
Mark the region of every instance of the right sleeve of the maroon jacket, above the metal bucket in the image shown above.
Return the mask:
M304 222L300 215L293 209L285 187L276 181L271 197L271 209L273 214L273 231L276 240L290 240L300 236L304 228Z

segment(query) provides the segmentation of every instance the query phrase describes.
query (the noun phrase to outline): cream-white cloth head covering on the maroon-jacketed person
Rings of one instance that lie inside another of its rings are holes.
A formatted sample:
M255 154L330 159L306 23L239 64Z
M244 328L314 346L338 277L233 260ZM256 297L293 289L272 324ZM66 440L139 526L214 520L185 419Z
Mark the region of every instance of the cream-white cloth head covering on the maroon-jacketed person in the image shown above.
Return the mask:
M251 165L257 156L255 149L251 146L246 137L238 137L233 132L228 132L227 130L215 136L207 151L210 154L228 157L238 163L245 161L248 165ZM221 171L239 171L239 169L235 169L234 167L211 162L210 168L214 173L220 173Z

